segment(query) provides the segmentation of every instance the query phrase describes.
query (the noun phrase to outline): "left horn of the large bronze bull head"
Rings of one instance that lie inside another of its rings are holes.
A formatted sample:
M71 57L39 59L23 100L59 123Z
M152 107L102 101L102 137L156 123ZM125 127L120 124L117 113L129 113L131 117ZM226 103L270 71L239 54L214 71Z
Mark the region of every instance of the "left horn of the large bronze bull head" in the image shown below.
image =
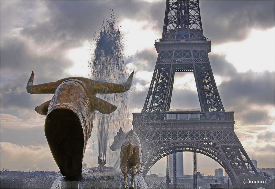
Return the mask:
M32 71L29 81L27 83L27 91L31 94L53 94L57 88L57 82L34 84L34 71Z

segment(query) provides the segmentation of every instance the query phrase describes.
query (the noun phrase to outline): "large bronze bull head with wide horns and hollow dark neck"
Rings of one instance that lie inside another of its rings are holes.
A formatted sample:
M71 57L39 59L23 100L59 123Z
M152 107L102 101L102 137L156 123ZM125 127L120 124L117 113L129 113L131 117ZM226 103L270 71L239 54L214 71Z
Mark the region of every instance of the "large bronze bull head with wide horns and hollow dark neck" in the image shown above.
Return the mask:
M45 135L53 158L64 176L80 176L83 156L93 127L92 112L109 114L116 106L97 98L97 93L123 93L132 85L133 73L122 84L105 83L83 77L33 85L34 72L27 83L31 94L54 94L35 111L46 115Z

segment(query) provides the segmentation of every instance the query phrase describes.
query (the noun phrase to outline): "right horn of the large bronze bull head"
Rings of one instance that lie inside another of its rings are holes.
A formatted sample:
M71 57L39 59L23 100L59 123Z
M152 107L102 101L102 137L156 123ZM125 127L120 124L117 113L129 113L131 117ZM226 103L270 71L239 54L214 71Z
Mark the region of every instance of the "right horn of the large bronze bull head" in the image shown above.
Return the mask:
M95 93L106 94L106 93L123 93L128 91L131 88L133 81L133 71L125 83L116 84L116 83L104 83L104 82L95 82L94 91Z

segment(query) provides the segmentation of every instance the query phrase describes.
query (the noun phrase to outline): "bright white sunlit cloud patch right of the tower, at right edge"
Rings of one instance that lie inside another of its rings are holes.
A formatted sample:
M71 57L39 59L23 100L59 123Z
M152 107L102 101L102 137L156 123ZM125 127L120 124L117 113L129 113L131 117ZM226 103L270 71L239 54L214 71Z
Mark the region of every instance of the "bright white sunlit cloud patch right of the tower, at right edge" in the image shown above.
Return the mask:
M226 55L226 60L238 72L250 69L254 72L274 71L274 34L274 28L266 31L252 29L246 40L213 46L212 52Z

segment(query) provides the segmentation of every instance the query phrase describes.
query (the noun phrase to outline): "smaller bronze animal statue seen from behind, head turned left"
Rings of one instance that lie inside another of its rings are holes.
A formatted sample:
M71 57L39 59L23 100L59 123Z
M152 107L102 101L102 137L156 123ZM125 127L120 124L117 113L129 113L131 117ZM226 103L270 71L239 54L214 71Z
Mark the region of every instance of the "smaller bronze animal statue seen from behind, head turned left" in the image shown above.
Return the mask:
M140 171L142 162L140 138L132 129L125 134L120 128L110 148L112 151L120 148L120 169L124 175L123 188L128 188L128 169L132 169L130 188L134 188L135 175Z

